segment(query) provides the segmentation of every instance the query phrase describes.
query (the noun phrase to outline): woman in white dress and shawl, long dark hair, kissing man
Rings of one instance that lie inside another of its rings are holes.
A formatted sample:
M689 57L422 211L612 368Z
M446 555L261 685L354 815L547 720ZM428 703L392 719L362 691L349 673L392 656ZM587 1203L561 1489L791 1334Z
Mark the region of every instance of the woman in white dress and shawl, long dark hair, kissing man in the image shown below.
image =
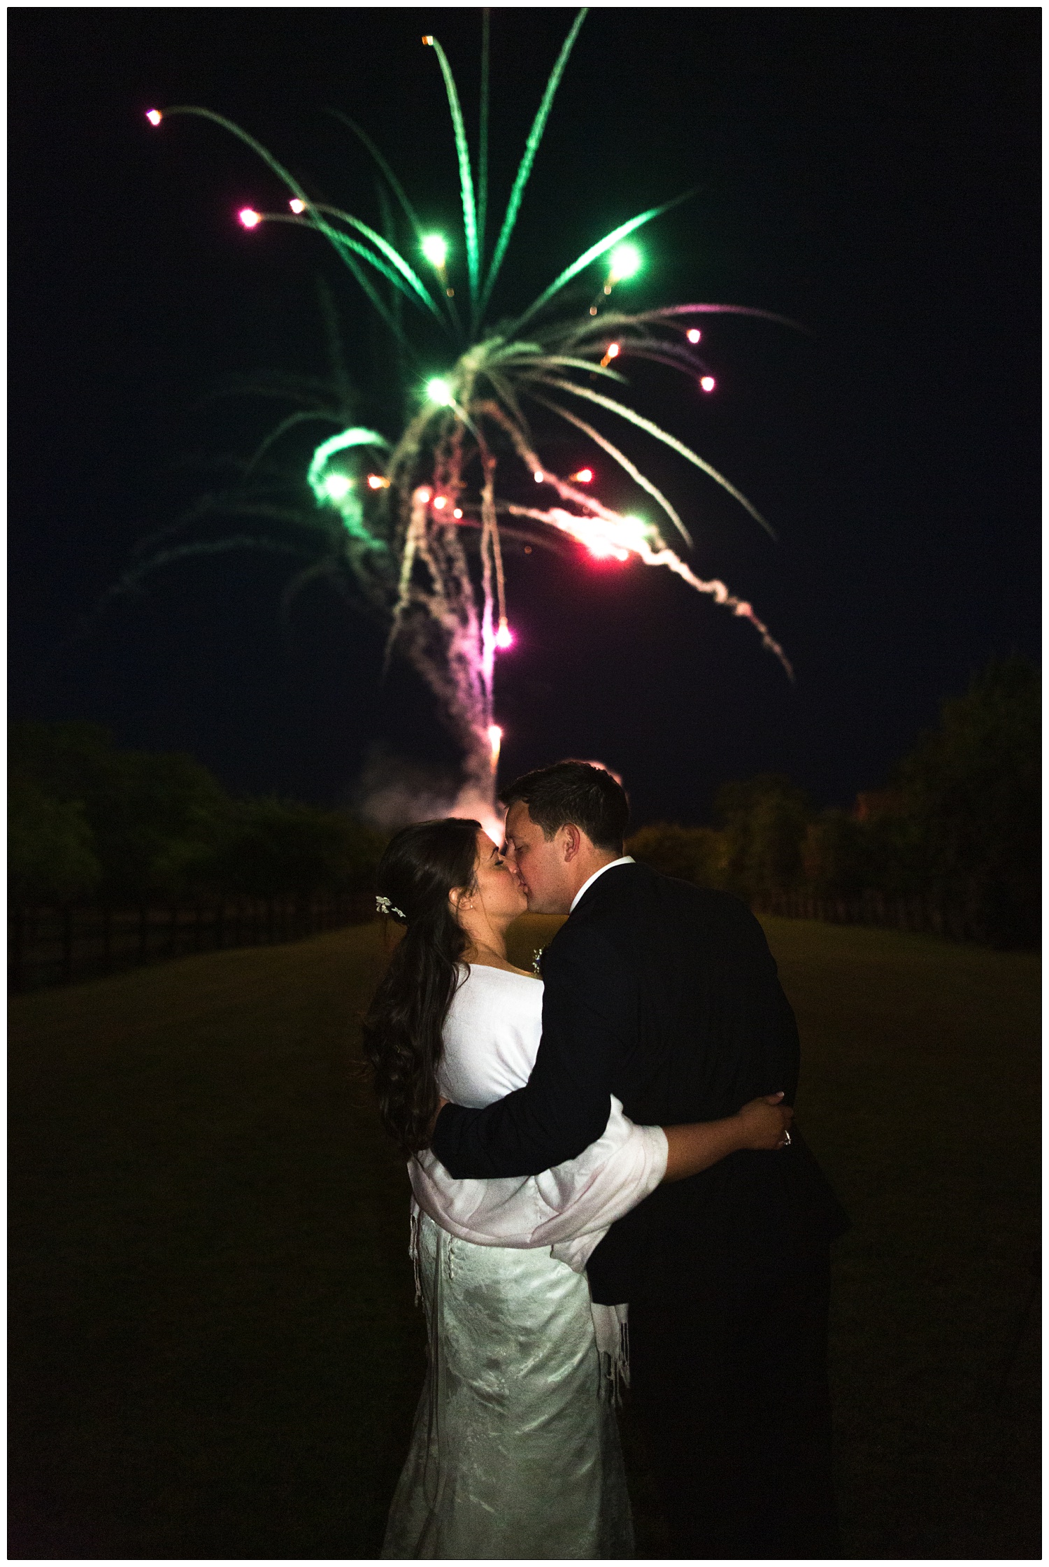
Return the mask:
M542 1175L454 1182L427 1149L442 1098L523 1087L542 981L506 956L524 893L479 823L406 827L379 865L406 926L365 1019L382 1120L409 1155L412 1255L429 1365L382 1556L623 1559L633 1528L615 1426L626 1307L592 1305L586 1261L662 1180L737 1149L777 1149L781 1095L725 1120L637 1127L612 1098L576 1160Z

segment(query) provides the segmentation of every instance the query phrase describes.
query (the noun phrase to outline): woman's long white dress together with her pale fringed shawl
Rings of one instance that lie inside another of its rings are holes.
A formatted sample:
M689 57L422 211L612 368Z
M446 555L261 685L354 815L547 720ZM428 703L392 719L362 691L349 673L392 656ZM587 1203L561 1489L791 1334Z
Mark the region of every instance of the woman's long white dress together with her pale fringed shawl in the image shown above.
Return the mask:
M539 981L471 967L445 1025L442 1094L482 1106L521 1087L540 1033ZM385 1559L633 1556L595 1337L595 1315L600 1329L615 1308L592 1308L582 1269L665 1163L662 1131L617 1100L604 1136L543 1175L452 1182L432 1153L412 1161L429 1365Z

